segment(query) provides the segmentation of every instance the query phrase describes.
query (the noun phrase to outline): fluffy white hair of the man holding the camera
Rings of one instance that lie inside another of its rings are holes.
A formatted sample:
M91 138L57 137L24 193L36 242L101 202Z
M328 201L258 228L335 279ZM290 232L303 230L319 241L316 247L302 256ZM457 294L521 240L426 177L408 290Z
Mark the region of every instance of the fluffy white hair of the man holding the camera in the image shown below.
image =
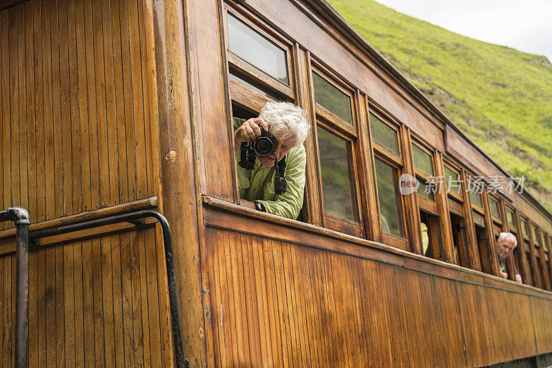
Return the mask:
M311 128L306 121L306 112L288 102L267 102L259 118L268 123L268 130L279 141L295 136L293 145L303 144Z

